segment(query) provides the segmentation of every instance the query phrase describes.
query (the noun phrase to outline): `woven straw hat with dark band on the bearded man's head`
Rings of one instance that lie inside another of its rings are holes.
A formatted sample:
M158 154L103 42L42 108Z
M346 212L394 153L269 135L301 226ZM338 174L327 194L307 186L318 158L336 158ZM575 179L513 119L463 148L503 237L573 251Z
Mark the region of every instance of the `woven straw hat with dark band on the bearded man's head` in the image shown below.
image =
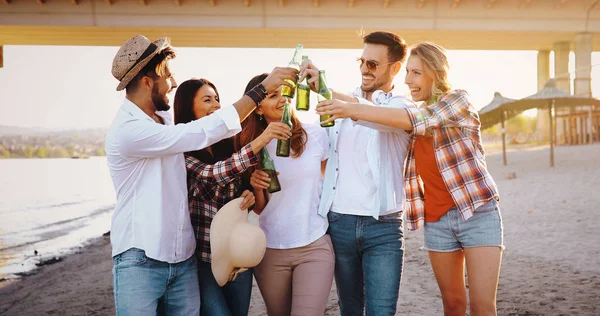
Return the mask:
M152 57L169 46L169 39L161 37L151 42L143 35L137 35L125 42L113 59L112 75L120 81L117 91L121 91L137 76Z

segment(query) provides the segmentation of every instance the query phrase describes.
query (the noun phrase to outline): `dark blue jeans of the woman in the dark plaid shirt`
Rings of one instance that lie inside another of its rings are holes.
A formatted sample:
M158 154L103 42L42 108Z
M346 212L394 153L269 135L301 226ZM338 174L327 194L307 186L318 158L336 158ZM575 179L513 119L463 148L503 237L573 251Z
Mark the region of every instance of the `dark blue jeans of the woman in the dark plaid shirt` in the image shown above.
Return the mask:
M198 283L202 316L246 316L252 296L252 270L240 273L234 281L220 287L211 264L198 262Z

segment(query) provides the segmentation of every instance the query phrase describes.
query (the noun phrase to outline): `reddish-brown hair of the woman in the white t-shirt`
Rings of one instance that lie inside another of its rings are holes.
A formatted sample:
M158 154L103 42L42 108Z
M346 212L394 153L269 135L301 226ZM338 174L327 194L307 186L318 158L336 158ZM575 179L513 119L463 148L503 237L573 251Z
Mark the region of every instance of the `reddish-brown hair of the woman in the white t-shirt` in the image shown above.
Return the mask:
M252 90L252 88L256 87L259 83L261 83L265 78L267 78L269 74L264 73L254 78L250 79L248 84L246 85L246 89L244 93ZM260 106L260 105L259 105ZM298 120L296 113L292 111L292 157L300 157L306 148L307 135L306 131L302 127L302 123ZM265 128L267 128L267 122L263 120L259 120L259 114L254 111L250 114L246 120L242 122L242 132L239 134L239 144L240 146L244 146L249 144L251 141L256 139L262 132L264 132Z

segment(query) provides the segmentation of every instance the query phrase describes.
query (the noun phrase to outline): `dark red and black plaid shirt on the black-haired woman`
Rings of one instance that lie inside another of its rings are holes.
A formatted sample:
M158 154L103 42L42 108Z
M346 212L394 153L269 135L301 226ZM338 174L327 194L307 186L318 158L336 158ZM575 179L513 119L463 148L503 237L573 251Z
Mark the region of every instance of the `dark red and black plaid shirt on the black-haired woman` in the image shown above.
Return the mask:
M206 164L187 156L185 165L188 177L190 218L196 235L196 249L200 260L210 263L210 223L217 211L229 201L239 197L241 174L258 163L258 156L250 144L231 158L216 164Z

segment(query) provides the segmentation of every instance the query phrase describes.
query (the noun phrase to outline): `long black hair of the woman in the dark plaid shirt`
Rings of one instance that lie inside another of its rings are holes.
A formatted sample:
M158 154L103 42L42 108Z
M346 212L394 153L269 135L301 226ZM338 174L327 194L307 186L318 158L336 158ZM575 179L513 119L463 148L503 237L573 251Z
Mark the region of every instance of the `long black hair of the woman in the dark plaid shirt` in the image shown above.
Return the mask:
M190 79L182 82L177 88L175 93L175 101L173 101L173 112L175 115L175 124L189 123L191 121L199 119L194 114L194 98L198 90L204 85L209 85L215 90L217 94L217 101L220 101L219 90L210 81L206 79ZM228 159L236 152L236 146L233 137L225 138L207 148L186 152L186 155L195 157L196 159L208 163L214 164L219 161ZM212 154L208 148L212 150Z

